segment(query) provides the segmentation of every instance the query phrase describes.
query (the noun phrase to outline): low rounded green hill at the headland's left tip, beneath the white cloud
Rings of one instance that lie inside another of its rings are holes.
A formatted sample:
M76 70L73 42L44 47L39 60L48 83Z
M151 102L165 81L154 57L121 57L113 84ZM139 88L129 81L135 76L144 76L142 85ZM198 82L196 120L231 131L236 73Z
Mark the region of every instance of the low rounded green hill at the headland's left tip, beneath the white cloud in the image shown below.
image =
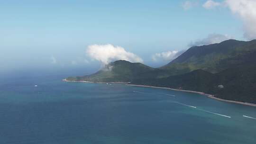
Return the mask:
M129 82L144 72L153 72L154 68L142 63L130 63L128 61L115 61L104 66L99 72L86 76L68 77L67 81L91 81L91 82Z

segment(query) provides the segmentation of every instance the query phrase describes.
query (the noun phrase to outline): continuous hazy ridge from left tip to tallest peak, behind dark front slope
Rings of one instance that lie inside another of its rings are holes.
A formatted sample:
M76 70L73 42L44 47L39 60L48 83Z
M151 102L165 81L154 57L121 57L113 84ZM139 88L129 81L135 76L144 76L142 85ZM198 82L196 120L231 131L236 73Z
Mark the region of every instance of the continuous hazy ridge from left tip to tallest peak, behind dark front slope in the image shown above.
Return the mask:
M116 61L87 76L68 77L69 81L116 82L144 78L167 78L194 70L221 72L238 65L256 63L256 40L227 40L219 44L193 46L160 68L142 63ZM113 68L113 69L112 69Z

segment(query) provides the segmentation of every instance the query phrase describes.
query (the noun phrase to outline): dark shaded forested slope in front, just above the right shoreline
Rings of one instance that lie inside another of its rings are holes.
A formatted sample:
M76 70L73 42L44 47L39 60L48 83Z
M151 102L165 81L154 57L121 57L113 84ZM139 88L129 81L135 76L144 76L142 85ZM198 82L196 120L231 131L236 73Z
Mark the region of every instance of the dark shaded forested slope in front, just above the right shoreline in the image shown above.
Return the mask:
M214 74L195 70L161 79L136 79L131 84L201 91L221 99L256 103L256 64L235 66Z

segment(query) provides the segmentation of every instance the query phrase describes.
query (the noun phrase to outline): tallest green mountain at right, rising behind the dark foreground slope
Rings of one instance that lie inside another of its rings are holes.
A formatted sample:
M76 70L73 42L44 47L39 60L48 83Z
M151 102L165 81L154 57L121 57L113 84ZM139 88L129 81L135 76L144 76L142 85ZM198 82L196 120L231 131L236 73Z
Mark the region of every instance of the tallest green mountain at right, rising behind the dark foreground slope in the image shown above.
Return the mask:
M227 40L219 44L193 46L172 62L159 69L178 75L194 70L212 73L238 65L256 63L256 40Z

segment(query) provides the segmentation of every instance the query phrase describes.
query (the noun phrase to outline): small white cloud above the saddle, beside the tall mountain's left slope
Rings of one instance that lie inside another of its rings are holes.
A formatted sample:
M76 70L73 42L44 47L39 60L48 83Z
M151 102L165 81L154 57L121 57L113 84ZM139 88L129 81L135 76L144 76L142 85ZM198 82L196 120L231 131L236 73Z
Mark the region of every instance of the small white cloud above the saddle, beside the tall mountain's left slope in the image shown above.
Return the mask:
M152 60L154 62L157 61L172 61L181 54L183 54L185 51L168 51L168 52L163 52L163 53L156 53L152 56Z

